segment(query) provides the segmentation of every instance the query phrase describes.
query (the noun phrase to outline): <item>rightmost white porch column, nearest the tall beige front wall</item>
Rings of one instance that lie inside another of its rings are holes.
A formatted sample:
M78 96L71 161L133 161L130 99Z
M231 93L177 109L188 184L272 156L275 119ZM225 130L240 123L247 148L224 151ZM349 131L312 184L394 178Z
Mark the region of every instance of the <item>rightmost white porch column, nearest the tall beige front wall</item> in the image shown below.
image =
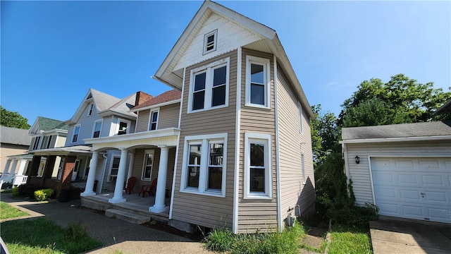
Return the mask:
M166 179L168 177L169 147L160 147L160 164L158 167L158 181L156 182L155 204L149 207L149 212L164 212L169 210L164 203L166 198Z

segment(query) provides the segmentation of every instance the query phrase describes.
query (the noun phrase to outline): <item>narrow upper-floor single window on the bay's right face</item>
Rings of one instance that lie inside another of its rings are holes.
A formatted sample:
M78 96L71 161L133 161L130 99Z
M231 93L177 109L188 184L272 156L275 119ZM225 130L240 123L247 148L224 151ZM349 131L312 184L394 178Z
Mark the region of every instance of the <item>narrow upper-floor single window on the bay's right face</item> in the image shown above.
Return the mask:
M246 105L271 108L270 61L246 56Z

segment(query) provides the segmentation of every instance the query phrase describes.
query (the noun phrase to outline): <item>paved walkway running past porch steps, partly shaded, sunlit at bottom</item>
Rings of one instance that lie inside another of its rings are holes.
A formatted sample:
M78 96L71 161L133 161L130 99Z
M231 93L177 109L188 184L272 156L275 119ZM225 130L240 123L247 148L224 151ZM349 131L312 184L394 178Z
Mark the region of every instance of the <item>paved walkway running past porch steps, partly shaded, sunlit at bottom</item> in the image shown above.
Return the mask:
M103 248L89 253L211 253L203 248L202 243L189 238L80 209L80 200L30 202L9 193L1 193L0 200L21 207L21 210L28 210L32 213L30 217L44 216L59 226L66 227L78 222L87 226L89 235L104 243Z

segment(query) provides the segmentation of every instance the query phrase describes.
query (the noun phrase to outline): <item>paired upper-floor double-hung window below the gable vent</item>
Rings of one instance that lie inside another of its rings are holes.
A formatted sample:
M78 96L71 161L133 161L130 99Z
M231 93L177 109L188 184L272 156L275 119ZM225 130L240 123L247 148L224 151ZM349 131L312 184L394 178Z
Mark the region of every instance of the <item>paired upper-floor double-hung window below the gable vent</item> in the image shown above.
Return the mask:
M229 61L223 59L191 71L188 112L227 106Z

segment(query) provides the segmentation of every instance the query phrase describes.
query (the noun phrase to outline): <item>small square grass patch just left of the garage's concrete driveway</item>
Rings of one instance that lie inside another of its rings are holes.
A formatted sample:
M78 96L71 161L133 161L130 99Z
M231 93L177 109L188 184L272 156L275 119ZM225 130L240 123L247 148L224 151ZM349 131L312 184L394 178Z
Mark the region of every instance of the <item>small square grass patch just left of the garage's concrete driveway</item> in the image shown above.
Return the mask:
M335 224L330 233L330 254L373 253L368 229L352 228Z

